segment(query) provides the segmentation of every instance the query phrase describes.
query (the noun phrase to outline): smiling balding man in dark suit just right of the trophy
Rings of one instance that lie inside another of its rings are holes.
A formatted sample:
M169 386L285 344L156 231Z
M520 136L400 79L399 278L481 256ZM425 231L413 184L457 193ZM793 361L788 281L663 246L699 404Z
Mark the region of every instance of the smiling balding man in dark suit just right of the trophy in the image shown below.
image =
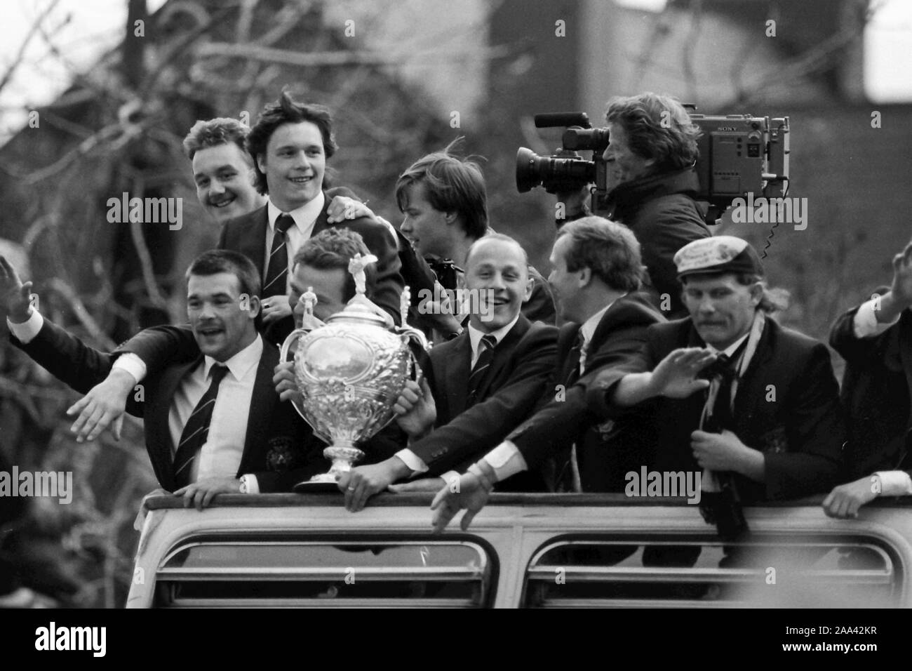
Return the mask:
M349 510L409 477L430 477L417 488L440 488L440 477L497 445L532 412L554 370L557 330L521 314L532 291L527 267L523 247L508 236L484 236L469 249L466 288L482 309L472 310L460 336L430 351L430 381L399 396L409 447L340 478ZM544 479L523 474L506 488L543 490Z

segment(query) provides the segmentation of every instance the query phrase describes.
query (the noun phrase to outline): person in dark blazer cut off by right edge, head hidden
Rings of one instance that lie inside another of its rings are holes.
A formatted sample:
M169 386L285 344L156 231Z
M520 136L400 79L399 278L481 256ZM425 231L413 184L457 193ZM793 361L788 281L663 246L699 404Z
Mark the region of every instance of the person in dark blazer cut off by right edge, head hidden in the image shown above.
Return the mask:
M845 359L845 477L824 498L834 518L854 518L878 496L912 494L912 244L893 257L893 282L836 320L830 344Z

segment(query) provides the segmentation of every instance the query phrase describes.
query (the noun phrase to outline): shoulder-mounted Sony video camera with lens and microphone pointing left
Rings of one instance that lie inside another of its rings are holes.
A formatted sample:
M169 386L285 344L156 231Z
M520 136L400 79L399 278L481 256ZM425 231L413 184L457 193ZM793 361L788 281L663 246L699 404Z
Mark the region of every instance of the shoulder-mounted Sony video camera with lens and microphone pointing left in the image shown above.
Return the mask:
M697 141L700 156L696 171L700 179L697 200L710 205L708 224L725 212L735 198L783 196L789 181L789 118L753 117L730 114L710 117L693 113L695 105L685 105L690 119L700 127ZM607 196L606 162L608 130L592 128L585 112L536 114L536 128L564 126L561 138L563 155L539 156L520 147L516 152L516 188L521 194L544 186L550 194L575 191L595 183L592 211L605 208ZM577 152L593 152L587 161ZM566 153L570 152L570 153Z

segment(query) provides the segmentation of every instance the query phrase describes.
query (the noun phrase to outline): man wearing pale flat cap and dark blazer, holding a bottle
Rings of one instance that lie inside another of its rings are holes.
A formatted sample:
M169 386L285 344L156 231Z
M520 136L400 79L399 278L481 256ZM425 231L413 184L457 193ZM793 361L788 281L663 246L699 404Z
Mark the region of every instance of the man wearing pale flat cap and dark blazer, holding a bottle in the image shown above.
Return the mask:
M603 419L646 411L657 427L655 468L700 472L701 511L734 540L737 524L723 528L706 505L730 486L746 505L833 487L845 435L839 386L822 342L768 316L781 301L746 241L695 240L674 260L689 317L650 326L638 357L589 386L589 408ZM459 503L473 512L472 501Z

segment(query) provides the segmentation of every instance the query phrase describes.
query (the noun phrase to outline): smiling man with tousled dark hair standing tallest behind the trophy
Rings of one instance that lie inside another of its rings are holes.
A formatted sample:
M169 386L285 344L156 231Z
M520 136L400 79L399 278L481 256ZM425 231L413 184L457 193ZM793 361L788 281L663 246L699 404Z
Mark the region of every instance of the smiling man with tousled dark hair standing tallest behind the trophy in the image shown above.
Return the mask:
M293 329L287 281L300 246L330 224L329 198L323 190L326 159L336 152L329 110L295 102L283 92L265 106L250 134L247 149L254 157L256 187L267 203L228 221L219 247L249 257L263 287L265 335L280 343ZM399 323L403 283L395 236L376 219L359 216L335 225L356 231L378 257L374 301Z

